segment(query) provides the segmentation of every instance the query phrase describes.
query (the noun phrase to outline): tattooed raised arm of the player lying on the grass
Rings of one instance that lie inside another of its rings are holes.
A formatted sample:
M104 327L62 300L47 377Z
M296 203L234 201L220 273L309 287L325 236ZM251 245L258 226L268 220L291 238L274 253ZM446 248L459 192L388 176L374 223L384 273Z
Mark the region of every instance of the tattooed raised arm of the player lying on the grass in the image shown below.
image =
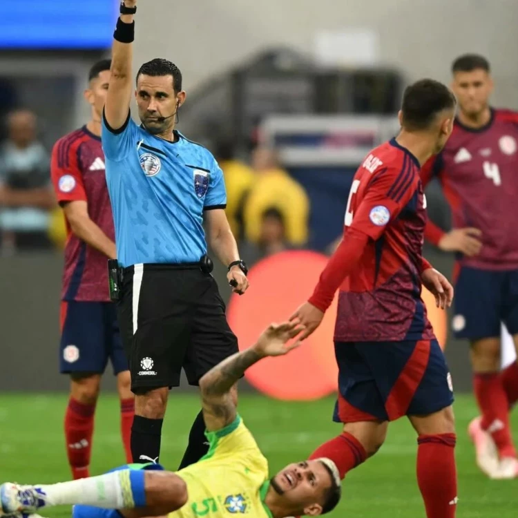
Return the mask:
M203 416L207 430L221 430L236 419L236 401L232 397L233 386L244 372L267 356L282 356L295 347L300 340L286 345L304 329L298 320L282 324L271 324L259 337L255 345L234 354L213 367L200 380Z

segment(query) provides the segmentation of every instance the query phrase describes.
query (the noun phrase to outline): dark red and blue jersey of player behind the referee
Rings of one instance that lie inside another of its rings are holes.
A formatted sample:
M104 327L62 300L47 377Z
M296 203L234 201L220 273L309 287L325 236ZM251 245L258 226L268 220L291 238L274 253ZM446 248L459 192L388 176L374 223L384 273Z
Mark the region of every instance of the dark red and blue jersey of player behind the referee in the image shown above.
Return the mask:
M59 139L52 149L52 184L59 204L85 201L90 219L115 240L101 139L86 126ZM62 300L108 302L108 258L70 231L65 247Z

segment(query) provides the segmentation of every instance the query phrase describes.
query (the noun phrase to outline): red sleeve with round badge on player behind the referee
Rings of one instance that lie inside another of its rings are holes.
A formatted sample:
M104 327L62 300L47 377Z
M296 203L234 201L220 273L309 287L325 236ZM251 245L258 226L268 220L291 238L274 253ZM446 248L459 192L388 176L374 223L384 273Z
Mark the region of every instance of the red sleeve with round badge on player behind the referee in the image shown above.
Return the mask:
M50 177L57 196L57 201L86 201L83 175L77 160L77 148L81 140L64 137L52 148Z

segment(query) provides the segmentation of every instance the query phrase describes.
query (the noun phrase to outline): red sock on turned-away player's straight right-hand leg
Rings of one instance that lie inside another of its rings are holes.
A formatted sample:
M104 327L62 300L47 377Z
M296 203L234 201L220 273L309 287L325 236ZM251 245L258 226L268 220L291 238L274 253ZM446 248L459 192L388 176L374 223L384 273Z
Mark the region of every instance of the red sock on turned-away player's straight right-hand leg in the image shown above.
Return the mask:
M417 483L428 518L454 518L457 510L455 434L420 435Z

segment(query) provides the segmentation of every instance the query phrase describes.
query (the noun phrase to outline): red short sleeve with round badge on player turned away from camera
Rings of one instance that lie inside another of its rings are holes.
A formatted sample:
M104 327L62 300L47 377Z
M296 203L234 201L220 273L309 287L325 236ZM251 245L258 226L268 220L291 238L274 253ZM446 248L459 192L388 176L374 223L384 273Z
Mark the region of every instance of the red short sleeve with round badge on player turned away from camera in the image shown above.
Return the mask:
M378 240L415 191L413 169L387 168L374 176L354 211L351 229Z

